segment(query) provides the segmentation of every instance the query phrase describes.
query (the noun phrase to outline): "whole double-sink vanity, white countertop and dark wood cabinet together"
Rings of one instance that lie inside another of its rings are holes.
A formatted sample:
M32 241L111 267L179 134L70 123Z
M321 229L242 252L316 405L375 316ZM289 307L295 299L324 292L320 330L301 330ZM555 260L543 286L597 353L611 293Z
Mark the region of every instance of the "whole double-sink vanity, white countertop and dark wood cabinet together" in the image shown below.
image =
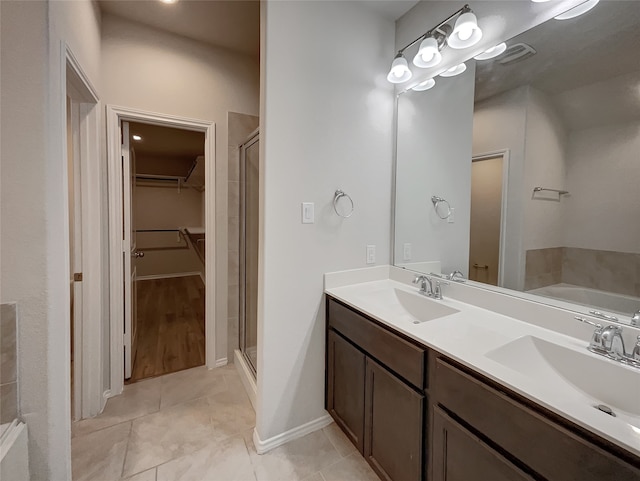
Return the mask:
M325 292L326 409L381 479L640 480L640 371L390 279ZM598 411L598 388L556 360L584 362L594 384L620 369L637 398L605 399L618 417Z

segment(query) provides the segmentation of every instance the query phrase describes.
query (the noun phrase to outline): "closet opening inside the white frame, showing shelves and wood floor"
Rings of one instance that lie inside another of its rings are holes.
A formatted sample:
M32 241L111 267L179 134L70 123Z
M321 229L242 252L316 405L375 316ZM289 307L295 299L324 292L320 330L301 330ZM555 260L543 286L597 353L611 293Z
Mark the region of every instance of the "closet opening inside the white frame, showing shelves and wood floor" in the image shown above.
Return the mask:
M125 382L136 382L205 364L205 134L127 121L122 133Z

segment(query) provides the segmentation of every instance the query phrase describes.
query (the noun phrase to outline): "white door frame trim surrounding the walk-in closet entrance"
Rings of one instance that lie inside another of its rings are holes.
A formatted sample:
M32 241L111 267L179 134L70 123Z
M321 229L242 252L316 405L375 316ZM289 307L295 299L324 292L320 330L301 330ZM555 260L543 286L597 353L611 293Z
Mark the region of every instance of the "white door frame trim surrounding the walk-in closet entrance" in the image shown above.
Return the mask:
M109 308L110 308L110 396L118 395L124 387L124 268L122 263L122 162L120 160L120 122L142 122L146 124L194 130L205 134L205 363L207 367L216 365L215 307L216 268L215 256L215 123L174 115L148 112L107 105L107 169L109 179ZM129 252L127 251L127 255Z

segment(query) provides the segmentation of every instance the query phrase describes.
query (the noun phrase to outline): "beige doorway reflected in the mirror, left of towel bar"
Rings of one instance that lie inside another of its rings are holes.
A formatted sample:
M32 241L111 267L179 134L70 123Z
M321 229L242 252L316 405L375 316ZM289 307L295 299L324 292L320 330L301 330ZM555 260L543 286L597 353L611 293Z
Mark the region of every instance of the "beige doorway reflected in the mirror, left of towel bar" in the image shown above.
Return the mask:
M508 156L493 152L471 162L469 279L502 286Z

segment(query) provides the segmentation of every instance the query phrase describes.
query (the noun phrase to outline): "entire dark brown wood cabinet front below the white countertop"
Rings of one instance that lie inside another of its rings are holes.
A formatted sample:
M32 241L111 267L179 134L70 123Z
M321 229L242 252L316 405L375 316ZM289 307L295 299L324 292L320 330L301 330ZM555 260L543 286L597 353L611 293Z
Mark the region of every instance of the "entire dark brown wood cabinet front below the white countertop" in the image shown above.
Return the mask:
M326 408L389 481L640 481L640 458L327 299Z

